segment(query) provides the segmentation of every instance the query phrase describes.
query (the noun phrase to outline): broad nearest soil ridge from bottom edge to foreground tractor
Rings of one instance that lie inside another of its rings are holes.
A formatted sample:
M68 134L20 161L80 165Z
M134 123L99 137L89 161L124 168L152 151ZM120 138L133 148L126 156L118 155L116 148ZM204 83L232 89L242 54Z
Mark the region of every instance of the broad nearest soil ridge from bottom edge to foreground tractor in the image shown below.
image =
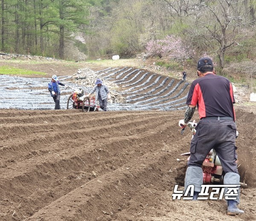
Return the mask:
M55 221L63 219L73 221L78 215L81 217L89 215L91 220L99 217L100 220L114 220L118 218L118 212L122 211L126 204L129 205L131 198L136 196L141 189L159 181L160 176L157 174L160 173L163 176L164 173L168 173L170 157L172 157L170 153L150 156L151 163L148 164L148 156L144 156L140 158L140 164L127 164L118 170L102 175L53 201L28 220L48 221L53 218ZM173 182L173 180L166 181L166 188L167 186L171 188ZM76 202L77 207L73 207L73 202ZM60 212L63 208L67 212Z

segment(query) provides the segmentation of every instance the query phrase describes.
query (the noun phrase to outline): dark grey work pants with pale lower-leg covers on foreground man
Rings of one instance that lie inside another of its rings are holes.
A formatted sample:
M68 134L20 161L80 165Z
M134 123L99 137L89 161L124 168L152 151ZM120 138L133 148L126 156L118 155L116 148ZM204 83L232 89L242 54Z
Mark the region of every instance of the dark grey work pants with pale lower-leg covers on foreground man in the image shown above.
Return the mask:
M215 149L226 174L224 184L239 184L235 147L236 124L232 120L201 119L195 129L196 133L190 145L185 188L193 184L195 191L201 191L203 184L201 166L212 148ZM239 203L239 197L236 201Z

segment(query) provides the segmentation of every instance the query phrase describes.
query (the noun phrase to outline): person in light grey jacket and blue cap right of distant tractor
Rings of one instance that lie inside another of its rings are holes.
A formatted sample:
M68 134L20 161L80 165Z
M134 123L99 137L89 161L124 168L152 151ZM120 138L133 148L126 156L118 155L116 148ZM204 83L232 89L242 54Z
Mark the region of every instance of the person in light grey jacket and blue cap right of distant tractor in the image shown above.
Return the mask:
M87 96L90 96L96 91L96 100L99 100L99 106L103 111L107 111L108 99L111 99L108 86L102 84L101 79L97 79L93 90Z

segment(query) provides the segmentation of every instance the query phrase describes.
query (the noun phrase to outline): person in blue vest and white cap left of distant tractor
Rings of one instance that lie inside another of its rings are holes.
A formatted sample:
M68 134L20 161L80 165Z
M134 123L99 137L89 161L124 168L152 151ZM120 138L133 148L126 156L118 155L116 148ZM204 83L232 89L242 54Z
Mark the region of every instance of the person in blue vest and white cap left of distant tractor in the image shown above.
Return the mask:
M61 82L58 81L58 77L56 75L52 75L52 81L48 84L48 91L50 92L50 95L52 96L54 102L55 102L55 110L61 109L60 106L60 98L61 98L61 90L59 88L59 85L65 86Z

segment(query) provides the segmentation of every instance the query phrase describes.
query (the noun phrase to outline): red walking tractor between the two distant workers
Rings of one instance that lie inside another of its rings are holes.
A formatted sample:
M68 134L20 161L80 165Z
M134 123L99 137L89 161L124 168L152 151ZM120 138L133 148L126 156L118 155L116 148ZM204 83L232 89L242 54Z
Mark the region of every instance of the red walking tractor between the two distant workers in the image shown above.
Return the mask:
M88 97L82 88L70 89L72 94L67 99L67 109L82 109L84 112L99 111L99 105L96 105L94 96Z

